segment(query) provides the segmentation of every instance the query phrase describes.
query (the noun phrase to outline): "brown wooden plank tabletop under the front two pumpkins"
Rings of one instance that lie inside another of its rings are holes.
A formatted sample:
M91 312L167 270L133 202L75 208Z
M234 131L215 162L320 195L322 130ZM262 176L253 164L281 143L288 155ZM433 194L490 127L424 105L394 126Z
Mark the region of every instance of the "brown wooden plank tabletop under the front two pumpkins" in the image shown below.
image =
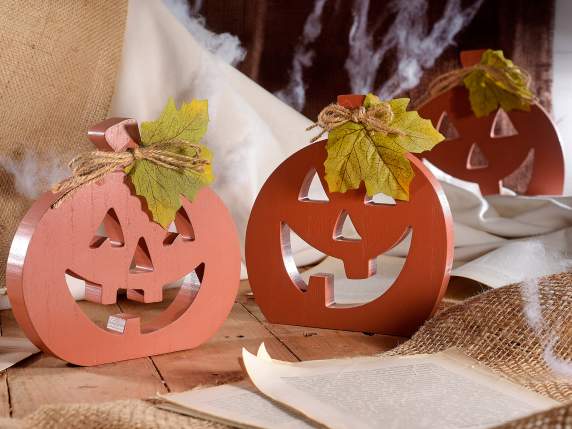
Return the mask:
M168 300L145 304L146 317L162 311L167 303ZM111 314L137 314L142 309L138 307L142 304L125 299L109 306L86 301L78 304L103 326ZM0 329L3 336L24 336L10 310L0 312ZM237 381L244 378L238 361L242 347L255 353L261 342L273 357L297 361L372 355L403 340L273 325L266 322L250 294L248 282L243 281L228 320L210 341L197 349L96 367L73 366L43 353L18 363L0 374L0 416L23 417L44 404L147 398L156 392Z

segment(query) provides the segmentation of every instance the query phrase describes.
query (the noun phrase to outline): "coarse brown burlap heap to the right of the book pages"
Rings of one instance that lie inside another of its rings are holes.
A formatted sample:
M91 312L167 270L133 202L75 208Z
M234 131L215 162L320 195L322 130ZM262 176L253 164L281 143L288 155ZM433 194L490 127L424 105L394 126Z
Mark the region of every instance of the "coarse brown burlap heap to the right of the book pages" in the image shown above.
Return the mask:
M527 320L526 310L535 307L541 314ZM531 321L537 316L543 323L535 329ZM388 354L436 353L450 347L528 389L572 401L572 379L556 374L544 358L553 350L554 360L572 362L572 273L549 276L532 286L490 290L449 307Z

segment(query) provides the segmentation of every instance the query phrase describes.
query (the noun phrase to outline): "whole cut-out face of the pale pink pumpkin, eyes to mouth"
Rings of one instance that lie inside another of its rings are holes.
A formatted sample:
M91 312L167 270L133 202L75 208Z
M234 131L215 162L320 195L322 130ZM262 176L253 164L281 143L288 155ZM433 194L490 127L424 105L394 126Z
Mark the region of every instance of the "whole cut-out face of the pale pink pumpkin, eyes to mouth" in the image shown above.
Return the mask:
M177 212L174 222L166 232L163 246L171 246L177 242L192 242L195 232L188 214L184 209ZM109 209L89 244L90 249L125 249L125 238L117 213ZM205 271L205 264L199 263L193 270L179 279L165 279L168 282L159 286L155 284L153 272L155 264L144 237L140 237L132 253L131 263L126 278L107 277L106 280L94 281L83 272L65 271L65 279L71 295L75 299L89 303L78 303L80 309L99 305L101 311L83 311L98 327L125 334L128 331L150 333L166 327L181 317L195 300ZM178 271L180 273L180 271ZM91 273L91 276L94 276ZM118 287L129 283L131 287ZM141 286L144 289L139 289ZM104 313L101 315L101 313ZM114 314L115 312L115 314ZM108 317L105 313L110 313ZM101 316L94 317L94 314Z

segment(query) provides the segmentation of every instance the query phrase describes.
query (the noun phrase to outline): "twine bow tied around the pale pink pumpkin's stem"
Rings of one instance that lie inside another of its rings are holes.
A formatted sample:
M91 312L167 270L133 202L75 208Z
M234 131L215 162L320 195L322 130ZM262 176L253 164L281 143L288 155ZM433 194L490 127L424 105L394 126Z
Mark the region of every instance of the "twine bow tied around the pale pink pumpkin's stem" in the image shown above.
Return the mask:
M182 147L193 148L195 153L193 155L185 155L175 152ZM52 188L52 192L62 193L52 204L52 208L57 208L80 188L97 182L117 169L124 169L137 160L145 159L171 170L179 170L181 173L202 173L205 166L210 164L210 161L202 159L200 155L200 146L185 141L169 141L153 146L128 149L125 152L96 150L82 153L68 164L72 171L71 177Z

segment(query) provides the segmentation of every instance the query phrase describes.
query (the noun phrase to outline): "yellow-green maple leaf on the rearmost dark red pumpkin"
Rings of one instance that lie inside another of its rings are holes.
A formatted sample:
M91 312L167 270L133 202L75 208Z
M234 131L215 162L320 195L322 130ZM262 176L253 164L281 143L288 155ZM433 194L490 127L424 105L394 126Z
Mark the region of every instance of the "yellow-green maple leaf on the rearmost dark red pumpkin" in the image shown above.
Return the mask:
M509 88L505 82L495 79L485 70L473 70L463 83L469 90L469 100L475 116L486 116L499 106L506 112L513 109L530 111L534 96L528 89L526 78L511 60L504 57L502 51L485 51L481 64L502 70L514 87Z

